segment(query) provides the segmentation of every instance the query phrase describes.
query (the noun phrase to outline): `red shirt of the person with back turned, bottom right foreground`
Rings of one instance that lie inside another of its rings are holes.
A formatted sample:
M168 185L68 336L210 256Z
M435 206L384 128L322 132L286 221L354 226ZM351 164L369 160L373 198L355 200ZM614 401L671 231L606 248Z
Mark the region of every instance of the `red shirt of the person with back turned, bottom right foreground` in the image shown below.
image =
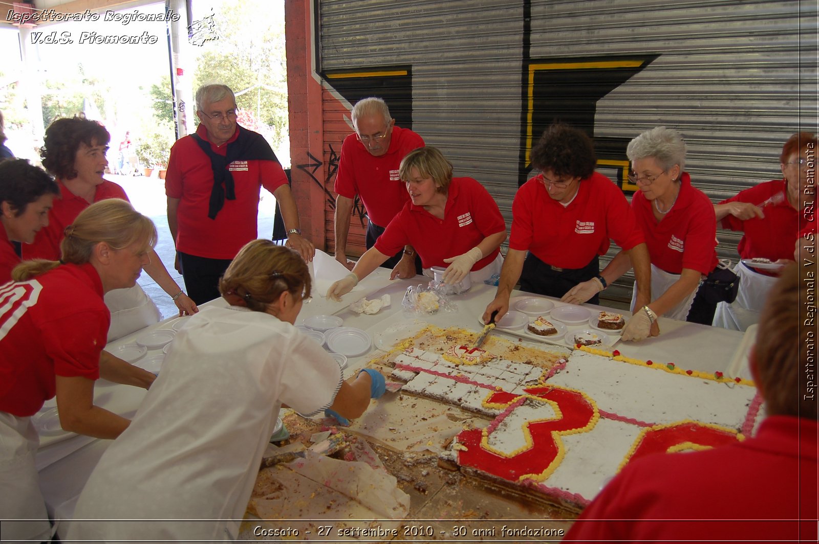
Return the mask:
M817 542L817 430L769 416L730 446L636 459L563 542Z

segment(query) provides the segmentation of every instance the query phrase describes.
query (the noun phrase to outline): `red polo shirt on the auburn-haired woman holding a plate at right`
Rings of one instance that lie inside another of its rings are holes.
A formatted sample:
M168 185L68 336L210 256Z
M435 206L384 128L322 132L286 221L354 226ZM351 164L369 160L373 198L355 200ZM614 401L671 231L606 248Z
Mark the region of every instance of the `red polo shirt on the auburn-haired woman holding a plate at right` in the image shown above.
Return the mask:
M760 205L776 193L785 191L787 194L786 184L784 179L760 183L756 187L740 191L727 200L722 200L720 204L749 202ZM771 261L794 259L794 244L800 230L799 211L785 198L779 204L765 206L762 213L765 214L765 218L747 221L737 219L731 214L722 218L722 228L745 233L740 245L737 246L740 257L742 259L759 257Z

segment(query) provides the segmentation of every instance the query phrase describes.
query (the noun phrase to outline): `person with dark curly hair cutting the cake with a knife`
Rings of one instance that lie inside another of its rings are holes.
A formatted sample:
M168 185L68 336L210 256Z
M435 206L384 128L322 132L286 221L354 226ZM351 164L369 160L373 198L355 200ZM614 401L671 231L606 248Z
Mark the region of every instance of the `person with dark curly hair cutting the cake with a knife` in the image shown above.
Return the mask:
M635 315L651 302L643 233L619 187L595 172L596 162L586 133L565 124L552 125L532 148L532 165L541 173L515 195L509 252L484 322L495 310L502 316L509 309L518 279L521 290L555 298L589 282L593 292L582 301L598 303L598 293L608 285L599 256L609 250L609 239L631 257L638 287Z

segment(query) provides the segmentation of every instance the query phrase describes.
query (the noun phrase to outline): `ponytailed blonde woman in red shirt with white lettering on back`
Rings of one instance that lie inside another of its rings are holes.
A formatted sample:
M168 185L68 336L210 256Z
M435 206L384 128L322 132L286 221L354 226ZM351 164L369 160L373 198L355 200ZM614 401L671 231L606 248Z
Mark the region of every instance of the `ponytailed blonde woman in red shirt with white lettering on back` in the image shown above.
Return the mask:
M0 519L3 538L48 541L31 422L57 395L63 429L115 438L129 420L93 404L100 377L147 389L154 375L102 351L111 321L104 293L134 285L156 244L151 219L124 200L88 206L66 227L62 260L31 261L0 287Z

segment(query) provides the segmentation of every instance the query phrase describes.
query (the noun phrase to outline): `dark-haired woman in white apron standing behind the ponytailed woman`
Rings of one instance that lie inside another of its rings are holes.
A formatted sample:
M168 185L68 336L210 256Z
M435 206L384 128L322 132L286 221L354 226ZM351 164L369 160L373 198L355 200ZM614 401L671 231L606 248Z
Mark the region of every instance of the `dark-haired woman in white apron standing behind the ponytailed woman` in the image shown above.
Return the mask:
M32 244L23 245L23 259L60 259L63 229L77 214L93 202L109 198L128 200L122 187L102 178L108 166L106 151L111 135L105 127L90 119L57 119L46 129L43 166L57 177L61 198L54 200L48 227L44 227ZM179 315L198 311L192 299L179 289L174 278L151 250L151 263L145 272L174 300ZM120 338L161 319L159 309L138 285L106 296L111 308L111 331L108 339Z

